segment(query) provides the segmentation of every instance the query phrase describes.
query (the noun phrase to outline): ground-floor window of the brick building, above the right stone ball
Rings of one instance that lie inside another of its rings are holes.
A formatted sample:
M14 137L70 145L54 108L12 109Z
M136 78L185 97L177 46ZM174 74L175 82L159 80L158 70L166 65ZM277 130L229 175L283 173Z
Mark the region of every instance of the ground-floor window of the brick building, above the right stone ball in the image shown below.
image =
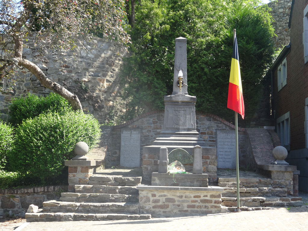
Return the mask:
M290 150L290 111L276 120L276 132L281 145Z

